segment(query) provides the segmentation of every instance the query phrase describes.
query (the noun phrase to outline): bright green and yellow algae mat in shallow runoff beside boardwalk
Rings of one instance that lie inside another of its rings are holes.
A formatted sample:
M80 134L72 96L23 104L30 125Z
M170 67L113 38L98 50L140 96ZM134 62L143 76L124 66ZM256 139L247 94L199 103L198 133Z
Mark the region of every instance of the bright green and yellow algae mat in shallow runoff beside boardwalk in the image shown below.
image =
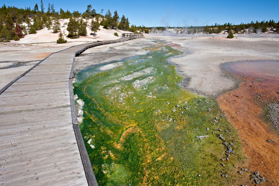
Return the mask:
M233 185L243 153L217 102L182 89L168 58L150 52L80 71L80 129L99 185ZM202 137L197 137L202 136Z

